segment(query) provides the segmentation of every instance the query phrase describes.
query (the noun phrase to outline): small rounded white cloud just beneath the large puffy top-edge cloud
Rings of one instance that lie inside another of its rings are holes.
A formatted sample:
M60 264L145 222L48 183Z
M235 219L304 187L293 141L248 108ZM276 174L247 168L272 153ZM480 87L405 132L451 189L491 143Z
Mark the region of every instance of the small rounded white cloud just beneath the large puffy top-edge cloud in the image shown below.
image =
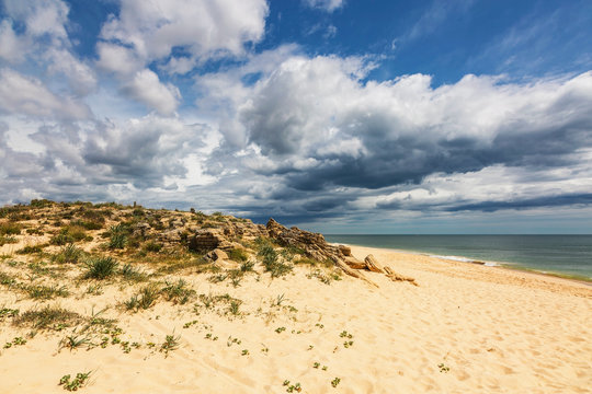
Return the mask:
M158 76L148 69L136 72L134 79L124 85L124 92L161 115L172 115L181 99L177 86L163 84Z

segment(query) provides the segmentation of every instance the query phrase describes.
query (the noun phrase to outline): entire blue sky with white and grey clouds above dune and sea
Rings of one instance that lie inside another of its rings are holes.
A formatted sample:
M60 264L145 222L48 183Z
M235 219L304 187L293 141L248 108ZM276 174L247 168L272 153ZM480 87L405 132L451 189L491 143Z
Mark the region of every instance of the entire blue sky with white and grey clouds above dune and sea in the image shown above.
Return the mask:
M592 233L592 2L2 0L0 205Z

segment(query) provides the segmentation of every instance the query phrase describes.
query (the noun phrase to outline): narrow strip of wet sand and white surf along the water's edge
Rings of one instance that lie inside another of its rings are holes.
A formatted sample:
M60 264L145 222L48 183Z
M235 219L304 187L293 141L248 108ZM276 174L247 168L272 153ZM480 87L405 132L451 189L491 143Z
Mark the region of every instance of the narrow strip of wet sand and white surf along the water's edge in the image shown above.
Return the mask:
M343 242L330 242L330 244L334 246L345 245L345 246L353 246L353 247L376 248L380 251L389 251L392 253L412 254L412 255L425 256L430 258L437 258L437 259L446 260L446 262L464 263L464 264L485 266L485 267L491 267L491 268L503 268L511 271L528 273L533 275L540 275L544 277L566 279L566 280L570 280L570 281L574 281L574 282L579 282L579 283L583 283L583 285L592 287L592 277L571 275L571 274L565 274L565 273L556 273L556 271L543 271L535 268L524 267L520 265L520 263L514 263L514 262L494 262L494 260L485 260L485 259L474 259L471 257L456 256L456 255L442 256L442 255L436 255L429 252L401 250L401 248L394 248L394 247L366 246L366 245L361 245L361 244L343 243Z

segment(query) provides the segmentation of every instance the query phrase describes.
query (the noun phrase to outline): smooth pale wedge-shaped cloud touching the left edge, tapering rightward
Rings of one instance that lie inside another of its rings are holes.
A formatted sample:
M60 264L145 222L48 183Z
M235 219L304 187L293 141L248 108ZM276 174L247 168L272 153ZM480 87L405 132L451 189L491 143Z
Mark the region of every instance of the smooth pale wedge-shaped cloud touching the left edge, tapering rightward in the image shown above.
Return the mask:
M86 119L89 107L52 93L38 79L0 69L0 111L33 117Z

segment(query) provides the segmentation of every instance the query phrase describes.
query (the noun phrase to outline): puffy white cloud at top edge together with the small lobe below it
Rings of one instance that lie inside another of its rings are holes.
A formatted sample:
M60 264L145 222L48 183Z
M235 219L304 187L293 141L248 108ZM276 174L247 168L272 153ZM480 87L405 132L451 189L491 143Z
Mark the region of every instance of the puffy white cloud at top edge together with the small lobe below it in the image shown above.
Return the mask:
M157 61L159 71L183 74L210 58L246 56L244 45L263 37L267 11L265 0L123 0L101 30L98 66L130 97L171 114L179 90L146 67Z

